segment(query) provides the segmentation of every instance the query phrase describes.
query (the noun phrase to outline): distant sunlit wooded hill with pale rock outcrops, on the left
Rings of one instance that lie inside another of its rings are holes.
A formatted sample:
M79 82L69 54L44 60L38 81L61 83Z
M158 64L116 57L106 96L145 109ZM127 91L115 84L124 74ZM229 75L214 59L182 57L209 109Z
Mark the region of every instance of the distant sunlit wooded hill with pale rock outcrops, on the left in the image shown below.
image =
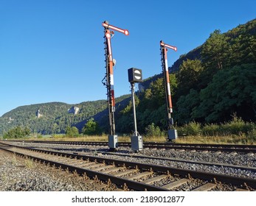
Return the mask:
M120 96L116 99L117 111L128 104L128 97ZM103 124L108 121L106 100L80 104L50 102L17 107L1 116L0 135L17 126L28 127L31 132L41 134L63 133L69 126L82 129L89 118L94 118L105 127Z

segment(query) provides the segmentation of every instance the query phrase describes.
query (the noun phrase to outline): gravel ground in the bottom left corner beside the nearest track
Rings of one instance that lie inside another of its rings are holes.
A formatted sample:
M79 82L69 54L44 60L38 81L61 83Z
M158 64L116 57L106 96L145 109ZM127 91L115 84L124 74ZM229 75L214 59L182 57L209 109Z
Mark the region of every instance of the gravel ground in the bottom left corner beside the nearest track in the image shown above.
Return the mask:
M83 177L0 150L0 191L99 191Z

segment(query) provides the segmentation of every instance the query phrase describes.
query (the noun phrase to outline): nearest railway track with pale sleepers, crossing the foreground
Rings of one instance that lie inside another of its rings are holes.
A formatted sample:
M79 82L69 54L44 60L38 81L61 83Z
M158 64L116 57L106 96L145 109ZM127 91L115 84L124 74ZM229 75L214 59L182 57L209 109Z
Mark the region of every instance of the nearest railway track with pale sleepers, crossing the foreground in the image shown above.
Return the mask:
M1 149L100 181L100 187L116 185L125 191L255 191L256 180L221 174L191 171L167 166L94 157L69 152L0 144Z

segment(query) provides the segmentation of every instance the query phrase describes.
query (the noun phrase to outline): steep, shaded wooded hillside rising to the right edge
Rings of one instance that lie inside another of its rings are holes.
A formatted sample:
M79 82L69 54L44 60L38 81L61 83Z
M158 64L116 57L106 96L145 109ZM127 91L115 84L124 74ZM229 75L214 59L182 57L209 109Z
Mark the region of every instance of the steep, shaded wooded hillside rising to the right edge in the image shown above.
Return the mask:
M215 30L203 45L182 55L170 71L176 124L220 124L232 116L256 121L256 19L223 34ZM137 99L138 128L143 132L154 123L166 129L162 75L146 79L141 88L144 90ZM120 132L132 129L130 116L131 104L120 113Z

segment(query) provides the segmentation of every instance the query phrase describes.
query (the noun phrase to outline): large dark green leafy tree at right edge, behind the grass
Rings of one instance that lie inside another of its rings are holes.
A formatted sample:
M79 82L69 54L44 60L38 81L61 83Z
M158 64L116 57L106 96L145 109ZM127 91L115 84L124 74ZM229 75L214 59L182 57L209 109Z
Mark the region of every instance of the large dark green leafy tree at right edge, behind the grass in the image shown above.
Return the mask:
M243 119L256 118L256 64L239 65L218 71L200 92L200 104L193 118L207 122L226 121L233 113Z

